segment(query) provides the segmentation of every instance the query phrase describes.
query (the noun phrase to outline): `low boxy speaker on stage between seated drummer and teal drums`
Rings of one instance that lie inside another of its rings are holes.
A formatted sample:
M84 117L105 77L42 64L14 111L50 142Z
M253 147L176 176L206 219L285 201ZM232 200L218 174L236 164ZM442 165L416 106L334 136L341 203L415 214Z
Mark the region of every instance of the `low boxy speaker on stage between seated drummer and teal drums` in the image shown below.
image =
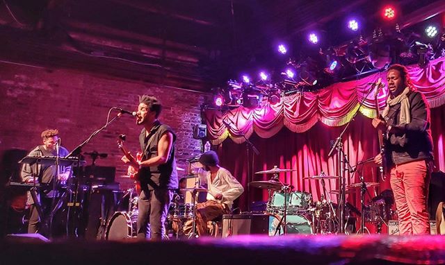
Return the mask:
M273 216L268 214L224 214L223 237L237 234L269 234Z

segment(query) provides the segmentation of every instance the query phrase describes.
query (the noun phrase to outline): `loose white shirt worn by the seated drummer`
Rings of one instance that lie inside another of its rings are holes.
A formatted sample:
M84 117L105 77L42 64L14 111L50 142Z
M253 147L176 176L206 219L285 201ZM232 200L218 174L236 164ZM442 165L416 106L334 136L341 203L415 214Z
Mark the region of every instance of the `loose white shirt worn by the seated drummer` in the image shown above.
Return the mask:
M243 186L223 167L218 169L213 182L211 182L210 171L201 170L198 172L198 176L200 176L201 185L207 183L207 200L225 203L229 208L232 208L234 200L243 194ZM222 200L216 200L215 196L218 194L223 194Z

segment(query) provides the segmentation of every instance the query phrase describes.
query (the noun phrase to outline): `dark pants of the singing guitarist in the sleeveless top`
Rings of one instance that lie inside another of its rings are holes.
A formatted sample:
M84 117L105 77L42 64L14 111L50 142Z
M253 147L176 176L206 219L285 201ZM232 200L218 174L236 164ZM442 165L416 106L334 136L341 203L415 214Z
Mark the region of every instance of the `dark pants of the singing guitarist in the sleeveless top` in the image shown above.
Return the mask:
M144 189L138 200L138 238L161 240L165 234L165 219L174 191Z

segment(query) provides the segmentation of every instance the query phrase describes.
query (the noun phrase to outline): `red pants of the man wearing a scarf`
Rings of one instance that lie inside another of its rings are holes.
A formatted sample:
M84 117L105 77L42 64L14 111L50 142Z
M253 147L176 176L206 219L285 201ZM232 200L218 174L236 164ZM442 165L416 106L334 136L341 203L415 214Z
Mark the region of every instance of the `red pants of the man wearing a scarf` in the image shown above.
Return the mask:
M391 169L401 234L430 234L428 187L431 167L425 160L396 165Z

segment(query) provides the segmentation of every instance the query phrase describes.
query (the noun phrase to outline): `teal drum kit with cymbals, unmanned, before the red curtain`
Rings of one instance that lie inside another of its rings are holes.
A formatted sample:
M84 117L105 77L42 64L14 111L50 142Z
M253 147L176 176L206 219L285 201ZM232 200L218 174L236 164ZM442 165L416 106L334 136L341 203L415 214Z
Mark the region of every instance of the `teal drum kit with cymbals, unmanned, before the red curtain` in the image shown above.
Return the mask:
M339 196L339 190L327 191L325 188L325 180L337 180L338 176L327 176L321 172L318 176L309 176L304 180L316 180L321 182L323 194L320 201L314 201L312 195L305 191L291 191L291 185L282 183L278 179L279 173L296 171L295 169L279 169L275 166L273 169L266 171L258 171L255 174L271 174L270 180L252 181L250 187L258 189L266 189L268 191L268 201L266 203L266 214L275 216L275 221L271 227L275 233L279 234L337 234L340 230L340 214L339 207L330 198L330 195ZM349 185L346 194L352 194L357 189L363 187L377 187L376 182L360 182ZM363 194L362 194L363 195ZM371 204L364 206L362 201L362 211L350 203L346 203L346 220L345 226L350 225L353 220L353 229L345 229L345 233L355 232L355 217L353 214L362 216L362 224L359 232L365 232L364 222L366 223L385 223L391 219L389 214L388 202L391 194L382 194L371 200ZM394 202L394 201L393 201ZM285 225L284 225L285 224ZM369 231L368 231L369 232Z

